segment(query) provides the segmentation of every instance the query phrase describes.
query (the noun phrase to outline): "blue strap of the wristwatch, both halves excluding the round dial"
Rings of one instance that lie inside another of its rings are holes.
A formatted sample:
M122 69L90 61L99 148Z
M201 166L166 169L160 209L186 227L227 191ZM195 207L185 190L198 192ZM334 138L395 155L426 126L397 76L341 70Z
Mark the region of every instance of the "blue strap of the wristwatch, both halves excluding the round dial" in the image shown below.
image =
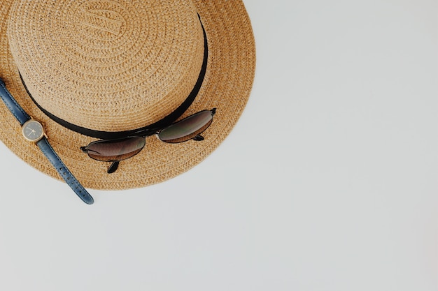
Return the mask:
M23 125L26 121L31 119L29 114L27 114L24 109L17 103L17 100L13 98L3 80L0 79L0 98L6 104L6 107L10 110L13 116ZM70 170L64 165L59 156L55 153L53 148L48 143L48 140L43 137L37 143L38 147L43 151L43 154L48 158L53 167L61 175L61 177L66 181L70 188L80 197L83 202L87 204L93 204L94 200L90 193L85 190L85 188L79 183L79 181L71 174Z

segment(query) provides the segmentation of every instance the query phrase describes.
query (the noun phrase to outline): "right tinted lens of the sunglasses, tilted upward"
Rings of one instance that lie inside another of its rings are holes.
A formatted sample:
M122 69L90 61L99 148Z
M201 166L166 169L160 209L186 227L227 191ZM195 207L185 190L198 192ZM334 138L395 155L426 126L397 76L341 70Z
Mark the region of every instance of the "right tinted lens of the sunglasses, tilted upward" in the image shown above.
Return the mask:
M215 110L204 110L164 128L158 134L163 142L185 142L201 134L213 121Z

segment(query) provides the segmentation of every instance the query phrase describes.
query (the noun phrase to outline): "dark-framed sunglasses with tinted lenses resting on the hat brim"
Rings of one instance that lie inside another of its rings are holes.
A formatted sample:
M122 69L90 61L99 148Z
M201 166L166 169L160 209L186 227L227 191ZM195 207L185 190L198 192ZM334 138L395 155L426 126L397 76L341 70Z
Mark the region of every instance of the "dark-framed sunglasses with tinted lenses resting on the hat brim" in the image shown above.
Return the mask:
M170 144L187 142L188 140L201 141L204 140L201 134L213 122L214 114L216 114L216 108L202 110L146 136L155 134L162 142ZM146 144L146 136L97 140L96 142L90 142L86 147L80 147L80 149L94 160L111 162L107 170L107 173L111 174L118 169L120 161L139 154Z

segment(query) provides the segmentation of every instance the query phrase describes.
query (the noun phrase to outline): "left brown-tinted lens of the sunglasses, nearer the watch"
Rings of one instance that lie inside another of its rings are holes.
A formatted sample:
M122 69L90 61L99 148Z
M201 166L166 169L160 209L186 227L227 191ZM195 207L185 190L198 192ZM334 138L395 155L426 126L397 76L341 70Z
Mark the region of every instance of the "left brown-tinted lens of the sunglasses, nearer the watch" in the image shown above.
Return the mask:
M143 149L144 137L125 137L119 140L99 140L87 146L87 154L98 161L122 161L131 158Z

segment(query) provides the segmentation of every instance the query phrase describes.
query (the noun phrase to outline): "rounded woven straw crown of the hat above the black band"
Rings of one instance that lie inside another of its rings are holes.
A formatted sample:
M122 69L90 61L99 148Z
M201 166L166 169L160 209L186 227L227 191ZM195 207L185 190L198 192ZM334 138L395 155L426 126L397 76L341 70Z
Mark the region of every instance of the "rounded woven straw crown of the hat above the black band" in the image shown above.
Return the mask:
M147 126L176 110L204 54L191 1L15 1L8 39L38 105L103 131Z

